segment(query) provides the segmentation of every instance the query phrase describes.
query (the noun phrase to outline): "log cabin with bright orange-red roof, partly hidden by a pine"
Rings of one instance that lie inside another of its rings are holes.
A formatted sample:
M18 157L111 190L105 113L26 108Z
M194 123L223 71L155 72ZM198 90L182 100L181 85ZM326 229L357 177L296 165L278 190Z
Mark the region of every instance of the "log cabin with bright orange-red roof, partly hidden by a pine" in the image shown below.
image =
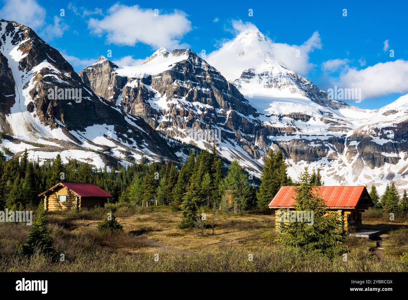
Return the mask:
M295 210L296 203L295 187L281 187L275 197L273 197L268 207L275 209L275 226L278 231L279 214L278 210ZM328 210L339 213L344 224L344 231L349 227L361 229L361 213L368 207L373 206L373 201L368 194L366 187L317 187L320 196L326 201Z

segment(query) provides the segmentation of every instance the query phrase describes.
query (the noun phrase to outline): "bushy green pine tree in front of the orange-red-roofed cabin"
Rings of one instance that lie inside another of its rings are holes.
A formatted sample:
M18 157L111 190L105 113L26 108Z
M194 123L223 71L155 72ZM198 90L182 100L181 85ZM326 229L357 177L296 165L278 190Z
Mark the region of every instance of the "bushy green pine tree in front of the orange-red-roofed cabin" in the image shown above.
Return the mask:
M342 244L343 224L337 213L330 213L319 189L310 184L308 169L299 176L299 186L295 187L295 211L313 212L313 222L289 220L279 222L282 235L279 240L288 246L300 247L306 252L323 253L329 258L348 252ZM286 213L286 211L285 211ZM295 213L296 215L296 213Z

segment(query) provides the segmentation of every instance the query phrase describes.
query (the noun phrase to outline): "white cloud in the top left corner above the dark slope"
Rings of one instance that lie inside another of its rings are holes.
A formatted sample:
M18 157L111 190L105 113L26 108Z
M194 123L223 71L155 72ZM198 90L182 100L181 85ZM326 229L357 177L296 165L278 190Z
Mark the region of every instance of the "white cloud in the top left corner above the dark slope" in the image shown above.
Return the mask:
M0 15L8 21L16 21L32 29L44 24L46 11L35 0L4 0Z

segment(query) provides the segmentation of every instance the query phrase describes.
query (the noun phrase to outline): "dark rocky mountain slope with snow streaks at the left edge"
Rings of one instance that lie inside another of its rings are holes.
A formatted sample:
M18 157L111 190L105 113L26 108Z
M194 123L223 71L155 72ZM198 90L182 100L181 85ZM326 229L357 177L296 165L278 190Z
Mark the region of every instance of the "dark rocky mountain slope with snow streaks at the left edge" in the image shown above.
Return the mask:
M116 165L142 155L178 160L142 118L95 95L61 54L29 27L0 20L0 51L2 131L29 142L41 140L38 144L56 139L58 153L82 159L81 153L99 167L101 159Z

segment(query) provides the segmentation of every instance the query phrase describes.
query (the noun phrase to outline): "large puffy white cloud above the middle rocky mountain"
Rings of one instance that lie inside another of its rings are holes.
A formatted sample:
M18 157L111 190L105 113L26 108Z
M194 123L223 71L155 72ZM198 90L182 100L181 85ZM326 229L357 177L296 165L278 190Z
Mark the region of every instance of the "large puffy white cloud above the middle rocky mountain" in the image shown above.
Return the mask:
M180 45L180 39L191 31L191 22L182 11L160 13L153 9L141 9L139 6L114 4L107 16L101 20L91 18L88 28L92 33L106 34L106 42L134 46L141 42L153 48L169 49L186 47Z

